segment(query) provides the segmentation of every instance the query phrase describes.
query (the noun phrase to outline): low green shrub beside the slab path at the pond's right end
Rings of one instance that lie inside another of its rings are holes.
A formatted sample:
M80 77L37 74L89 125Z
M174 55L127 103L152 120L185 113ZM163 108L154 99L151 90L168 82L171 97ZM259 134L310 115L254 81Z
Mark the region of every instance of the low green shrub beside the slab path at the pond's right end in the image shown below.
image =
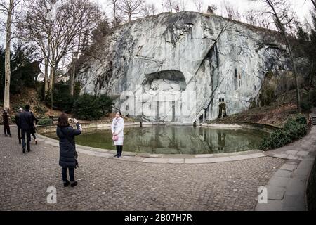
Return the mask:
M263 139L259 148L261 150L280 148L292 141L301 139L307 134L307 129L306 118L303 115L298 115L295 118L287 120L283 129L273 131L270 136Z

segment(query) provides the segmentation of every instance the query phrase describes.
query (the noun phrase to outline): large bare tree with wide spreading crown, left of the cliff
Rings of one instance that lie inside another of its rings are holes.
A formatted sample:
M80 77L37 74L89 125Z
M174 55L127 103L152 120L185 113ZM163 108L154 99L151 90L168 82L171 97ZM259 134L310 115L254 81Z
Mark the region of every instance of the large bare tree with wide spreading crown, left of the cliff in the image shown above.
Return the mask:
M62 58L72 56L81 50L83 37L96 27L98 6L89 0L60 0L58 4L51 0L35 1L36 3L33 1L27 6L27 13L20 23L20 29L26 39L37 44L51 67L49 86L53 108L53 86L58 64ZM51 2L55 3L55 13L47 10ZM73 79L72 77L71 80Z

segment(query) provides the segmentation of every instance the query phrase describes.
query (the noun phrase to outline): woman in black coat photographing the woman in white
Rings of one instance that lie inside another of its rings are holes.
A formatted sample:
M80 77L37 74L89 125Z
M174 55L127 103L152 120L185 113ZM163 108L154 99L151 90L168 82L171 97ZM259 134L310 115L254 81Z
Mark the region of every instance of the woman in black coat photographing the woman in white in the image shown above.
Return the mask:
M77 167L77 151L74 141L74 136L81 134L81 125L78 120L73 121L77 129L70 126L68 116L65 113L60 114L58 117L58 126L56 134L59 138L60 158L59 165L62 167L62 181L64 187L77 186L77 181L74 181L74 168ZM67 179L67 169L69 171L70 181Z

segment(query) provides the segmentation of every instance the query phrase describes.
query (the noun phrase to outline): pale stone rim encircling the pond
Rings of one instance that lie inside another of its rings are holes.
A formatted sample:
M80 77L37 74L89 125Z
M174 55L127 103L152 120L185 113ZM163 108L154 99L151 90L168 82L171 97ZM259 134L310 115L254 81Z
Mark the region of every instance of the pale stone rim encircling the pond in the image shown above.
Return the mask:
M152 126L154 124L159 123L150 123L143 122L143 126ZM190 125L192 124L183 124L183 123L168 123L172 125ZM126 123L126 127L131 126L139 126L139 122ZM103 124L82 124L84 129L90 128L104 128L110 127L111 124L103 123ZM241 128L249 128L249 126L244 126L243 124L199 124L202 127L222 127L224 129L241 129ZM39 126L38 127L41 134L39 135L40 141L45 141L46 145L51 145L58 147L59 142L55 139L48 138L42 134L45 134L52 129L55 129L55 125L49 126ZM237 160L249 160L254 158L266 157L262 150L246 150L235 153L215 153L215 154L200 154L200 155L164 155L164 154L149 154L149 153L132 153L123 151L123 155L121 158L114 158L116 151L107 150L102 148L93 148L88 146L80 146L76 145L77 152L86 154L86 155L94 155L97 157L103 158L112 158L114 160L121 161L133 161L133 162L147 162L147 163L171 163L171 164L201 164L201 163L216 163L216 162L232 162Z

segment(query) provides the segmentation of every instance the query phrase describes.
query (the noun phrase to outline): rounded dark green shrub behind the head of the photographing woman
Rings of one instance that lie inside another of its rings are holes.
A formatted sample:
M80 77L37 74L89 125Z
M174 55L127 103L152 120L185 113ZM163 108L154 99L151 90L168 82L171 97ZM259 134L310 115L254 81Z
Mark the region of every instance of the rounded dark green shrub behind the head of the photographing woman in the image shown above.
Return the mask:
M72 112L80 120L98 120L103 112L98 104L98 98L90 94L83 94L74 102Z

